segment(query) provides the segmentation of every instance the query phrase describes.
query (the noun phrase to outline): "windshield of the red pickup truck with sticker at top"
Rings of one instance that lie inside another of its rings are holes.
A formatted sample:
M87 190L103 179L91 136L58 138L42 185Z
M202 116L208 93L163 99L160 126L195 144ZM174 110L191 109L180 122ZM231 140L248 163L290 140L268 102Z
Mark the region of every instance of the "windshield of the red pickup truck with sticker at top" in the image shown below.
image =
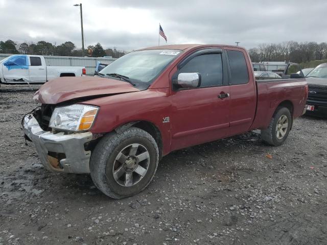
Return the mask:
M134 51L115 60L101 70L102 75L118 74L132 82L152 83L165 67L175 60L181 50Z

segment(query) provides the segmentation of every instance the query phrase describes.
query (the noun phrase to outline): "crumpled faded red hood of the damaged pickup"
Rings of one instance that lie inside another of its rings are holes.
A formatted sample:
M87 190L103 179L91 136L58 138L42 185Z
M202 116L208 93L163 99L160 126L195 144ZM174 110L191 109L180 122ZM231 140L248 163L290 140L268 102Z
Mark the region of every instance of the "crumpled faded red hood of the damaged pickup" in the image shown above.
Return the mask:
M43 84L33 99L42 104L58 104L82 97L140 91L119 80L100 77L61 77Z

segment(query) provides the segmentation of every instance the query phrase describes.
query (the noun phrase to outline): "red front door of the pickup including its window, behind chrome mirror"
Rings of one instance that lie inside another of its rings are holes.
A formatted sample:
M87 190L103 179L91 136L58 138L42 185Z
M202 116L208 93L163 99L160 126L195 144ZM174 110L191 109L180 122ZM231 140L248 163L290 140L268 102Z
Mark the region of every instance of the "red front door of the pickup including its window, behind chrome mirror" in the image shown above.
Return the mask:
M208 48L191 54L177 65L172 80L180 73L198 72L201 85L191 89L173 88L170 96L172 151L228 134L230 98L227 76L223 76L225 63L220 48Z

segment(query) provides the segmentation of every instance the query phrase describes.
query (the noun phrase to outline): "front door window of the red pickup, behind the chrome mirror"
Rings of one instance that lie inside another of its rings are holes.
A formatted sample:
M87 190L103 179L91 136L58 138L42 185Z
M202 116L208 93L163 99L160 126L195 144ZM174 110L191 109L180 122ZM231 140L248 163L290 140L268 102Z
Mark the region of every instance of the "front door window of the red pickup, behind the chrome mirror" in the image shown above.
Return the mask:
M199 72L201 86L218 86L223 84L223 68L221 54L203 54L194 57L182 68L178 74L184 72Z

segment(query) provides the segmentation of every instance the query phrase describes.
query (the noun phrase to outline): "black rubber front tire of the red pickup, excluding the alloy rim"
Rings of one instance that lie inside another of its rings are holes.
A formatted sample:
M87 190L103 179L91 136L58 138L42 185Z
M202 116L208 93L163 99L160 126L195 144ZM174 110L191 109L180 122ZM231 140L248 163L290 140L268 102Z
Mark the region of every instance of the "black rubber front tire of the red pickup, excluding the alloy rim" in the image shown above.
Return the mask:
M149 159L146 160L147 172L142 179L126 187L114 179L113 168L117 163L118 154L131 144L145 146ZM131 127L120 134L109 133L98 142L91 154L90 174L94 184L104 194L114 199L122 199L144 190L149 185L156 172L158 161L159 150L154 138L142 129Z

